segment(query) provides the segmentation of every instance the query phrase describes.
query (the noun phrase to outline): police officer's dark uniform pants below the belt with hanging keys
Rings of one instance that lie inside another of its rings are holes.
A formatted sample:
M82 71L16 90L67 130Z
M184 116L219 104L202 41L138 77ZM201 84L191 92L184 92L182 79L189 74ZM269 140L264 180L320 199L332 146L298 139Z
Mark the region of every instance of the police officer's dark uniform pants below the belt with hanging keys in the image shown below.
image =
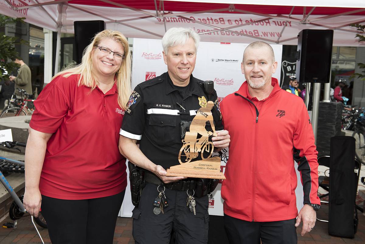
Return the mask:
M166 189L165 195L169 206L164 214L155 215L153 201L158 196L157 185L147 183L143 188L139 205L132 214L135 244L169 244L172 232L176 244L207 244L208 196L195 198L194 215L186 206L186 191Z

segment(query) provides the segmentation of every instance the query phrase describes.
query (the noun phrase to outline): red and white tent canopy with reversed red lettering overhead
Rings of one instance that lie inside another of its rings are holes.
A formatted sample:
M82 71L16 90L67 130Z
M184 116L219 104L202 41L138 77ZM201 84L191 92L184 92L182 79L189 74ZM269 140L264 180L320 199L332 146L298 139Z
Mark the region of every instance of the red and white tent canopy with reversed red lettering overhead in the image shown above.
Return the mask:
M161 38L171 27L192 27L202 41L296 45L303 29L333 29L334 46L364 45L355 39L352 23L365 22L363 0L293 1L275 6L264 1L141 0L2 0L0 13L26 17L26 22L53 31L73 33L77 20L104 20L107 28L126 37ZM310 7L302 7L306 3ZM255 4L255 5L252 5ZM262 5L260 5L262 4ZM313 7L314 6L314 7ZM323 7L325 6L325 7ZM189 11L187 11L189 10Z

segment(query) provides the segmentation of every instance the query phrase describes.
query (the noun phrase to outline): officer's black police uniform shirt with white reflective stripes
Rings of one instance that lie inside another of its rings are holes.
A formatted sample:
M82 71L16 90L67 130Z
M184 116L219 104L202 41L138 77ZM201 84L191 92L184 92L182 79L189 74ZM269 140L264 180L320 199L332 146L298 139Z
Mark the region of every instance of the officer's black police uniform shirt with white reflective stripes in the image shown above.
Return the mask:
M128 101L119 134L140 140L139 149L142 153L165 169L180 164L178 154L183 145L181 123L191 122L196 111L207 106L208 100L214 102L211 111L215 130L223 130L216 92L214 91L208 99L208 94L199 82L202 81L191 75L188 88L184 92L173 85L166 72L140 83ZM211 129L210 126L206 128Z

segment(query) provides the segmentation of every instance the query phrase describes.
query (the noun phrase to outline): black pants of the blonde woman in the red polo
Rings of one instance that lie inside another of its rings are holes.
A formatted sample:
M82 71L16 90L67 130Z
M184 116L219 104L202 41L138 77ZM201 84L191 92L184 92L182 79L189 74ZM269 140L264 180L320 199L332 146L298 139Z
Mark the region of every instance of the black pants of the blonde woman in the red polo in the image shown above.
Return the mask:
M42 195L42 215L52 244L112 244L125 192L83 200Z

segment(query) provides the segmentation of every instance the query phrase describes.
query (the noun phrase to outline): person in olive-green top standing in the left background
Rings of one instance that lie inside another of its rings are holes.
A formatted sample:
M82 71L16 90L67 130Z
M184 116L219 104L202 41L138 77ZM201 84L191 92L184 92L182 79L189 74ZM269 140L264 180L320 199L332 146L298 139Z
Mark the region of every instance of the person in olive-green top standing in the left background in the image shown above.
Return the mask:
M31 80L31 72L28 65L26 65L22 58L16 58L14 61L16 64L20 64L20 68L18 70L18 75L15 76L9 76L10 81L14 81L15 83L15 94L18 93L19 89L23 89L27 92L27 94L32 95L32 80Z

